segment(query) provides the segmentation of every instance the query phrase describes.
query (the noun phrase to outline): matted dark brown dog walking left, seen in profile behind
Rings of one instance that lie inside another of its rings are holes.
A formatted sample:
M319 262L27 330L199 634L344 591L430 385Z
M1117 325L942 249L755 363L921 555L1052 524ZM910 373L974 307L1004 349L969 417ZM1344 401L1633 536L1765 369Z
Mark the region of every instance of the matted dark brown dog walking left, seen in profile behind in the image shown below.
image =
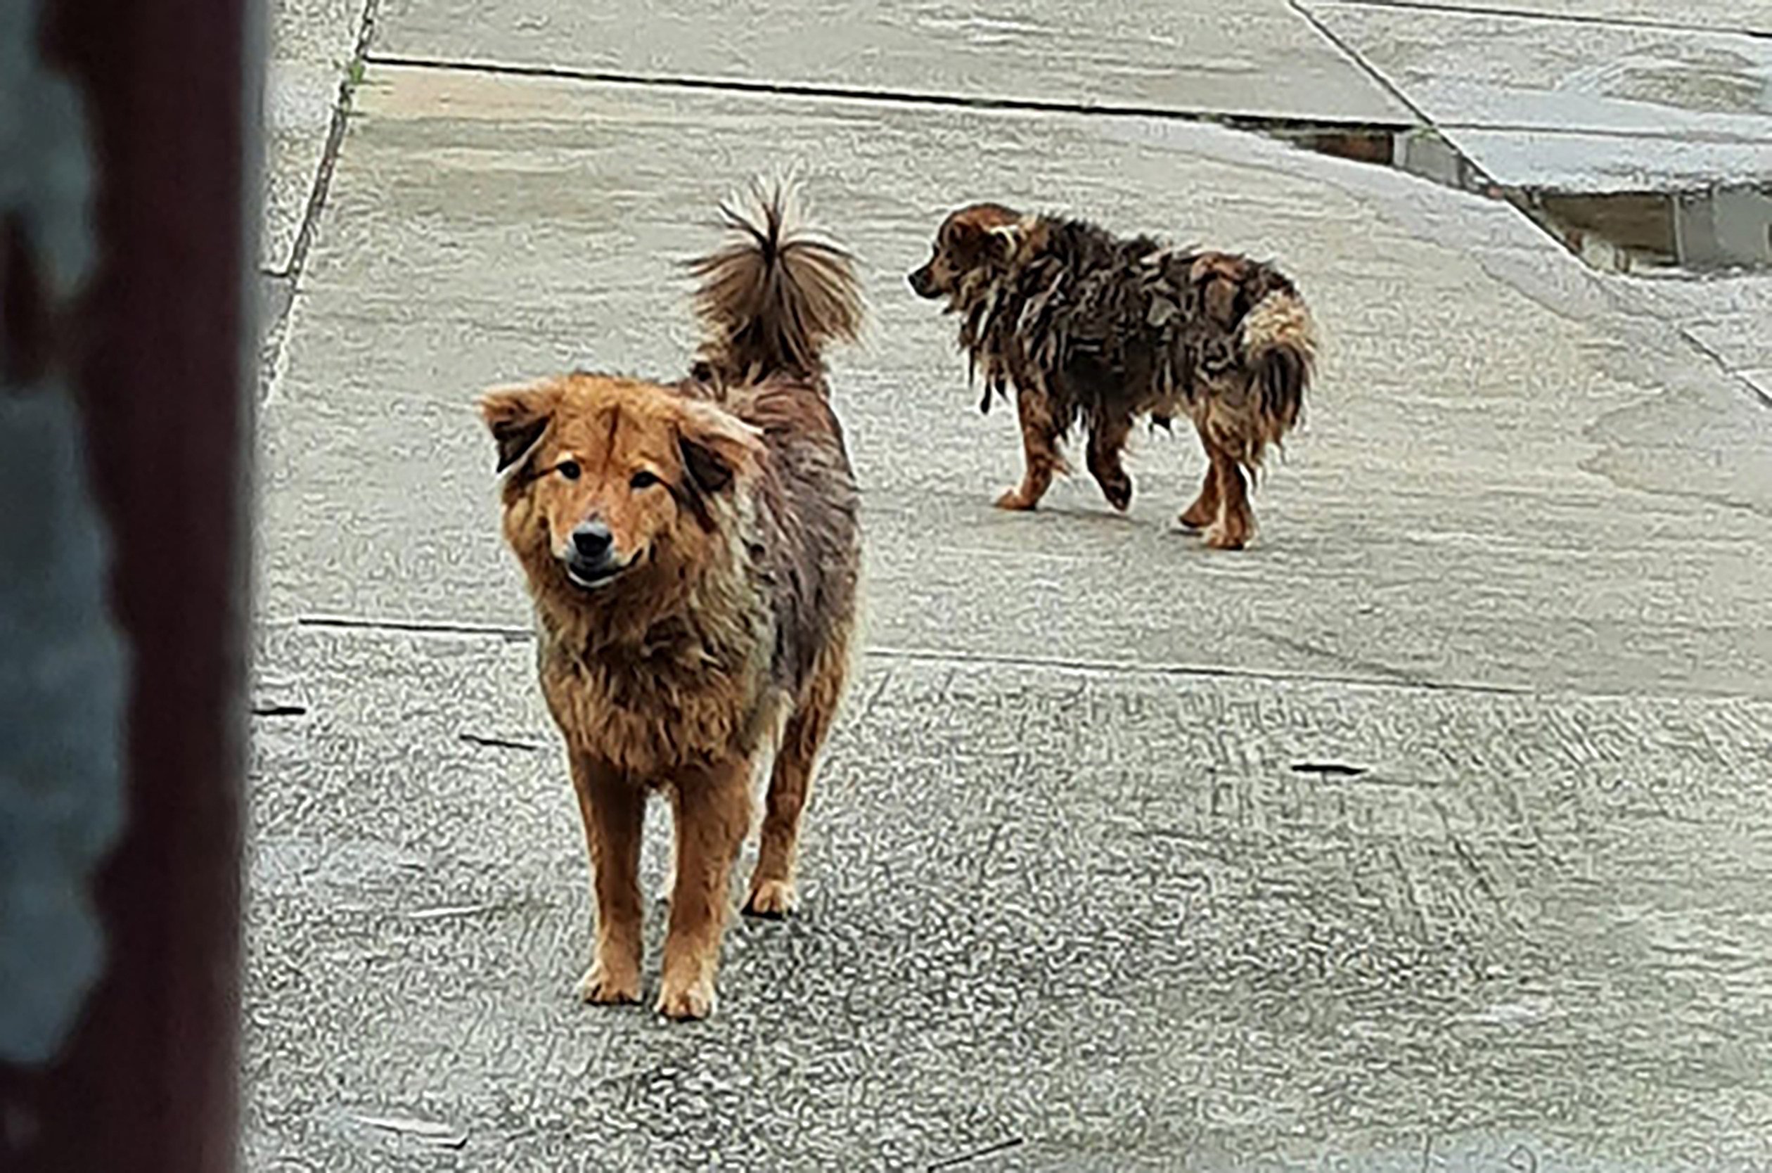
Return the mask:
M1090 473L1123 510L1132 420L1168 427L1185 413L1210 466L1182 524L1207 528L1217 549L1255 533L1244 470L1297 423L1317 354L1310 312L1278 269L973 204L943 221L934 257L909 280L960 315L960 347L985 376L980 408L1015 388L1028 471L999 507L1038 505L1067 471L1058 441L1081 422Z

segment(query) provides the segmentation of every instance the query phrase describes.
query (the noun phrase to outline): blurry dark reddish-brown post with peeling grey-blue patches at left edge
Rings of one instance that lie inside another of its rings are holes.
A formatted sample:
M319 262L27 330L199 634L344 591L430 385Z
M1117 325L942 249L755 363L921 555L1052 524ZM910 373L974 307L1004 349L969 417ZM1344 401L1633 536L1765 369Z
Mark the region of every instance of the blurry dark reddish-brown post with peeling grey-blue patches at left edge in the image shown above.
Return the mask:
M0 395L60 372L80 408L126 652L122 822L90 884L96 983L53 1056L0 1061L0 1168L211 1173L236 1150L257 19L41 0L39 28L83 105L94 255L58 314L0 225Z

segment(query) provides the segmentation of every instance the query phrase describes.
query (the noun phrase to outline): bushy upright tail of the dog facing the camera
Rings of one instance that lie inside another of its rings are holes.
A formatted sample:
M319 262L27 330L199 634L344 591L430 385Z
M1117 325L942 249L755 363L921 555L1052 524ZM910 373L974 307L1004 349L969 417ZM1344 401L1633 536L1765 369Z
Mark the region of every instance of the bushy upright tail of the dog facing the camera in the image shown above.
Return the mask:
M728 241L689 262L702 280L695 310L703 338L700 372L744 383L785 372L817 379L824 347L861 331L861 282L854 259L812 230L789 183L753 183L719 216Z

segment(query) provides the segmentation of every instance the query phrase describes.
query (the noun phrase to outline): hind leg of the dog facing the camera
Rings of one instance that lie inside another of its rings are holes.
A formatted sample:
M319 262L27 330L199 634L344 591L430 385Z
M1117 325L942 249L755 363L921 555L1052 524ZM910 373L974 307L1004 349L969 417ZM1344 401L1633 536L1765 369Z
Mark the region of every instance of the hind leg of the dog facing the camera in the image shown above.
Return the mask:
M813 670L812 682L799 707L787 721L781 746L769 774L769 797L764 808L764 829L757 845L757 870L751 872L751 895L744 900L750 916L781 918L794 911L794 861L799 854L799 817L812 794L812 774L819 751L836 719L836 705L843 696L849 675L849 633L833 640Z

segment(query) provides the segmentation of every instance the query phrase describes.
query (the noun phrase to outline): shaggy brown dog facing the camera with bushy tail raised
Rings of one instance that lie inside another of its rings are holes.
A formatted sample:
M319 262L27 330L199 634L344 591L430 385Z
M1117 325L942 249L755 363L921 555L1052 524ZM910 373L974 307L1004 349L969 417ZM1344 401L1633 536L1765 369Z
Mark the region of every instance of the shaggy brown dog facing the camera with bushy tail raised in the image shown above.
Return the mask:
M640 838L659 788L677 875L657 1008L677 1019L714 1006L727 881L771 746L744 907L794 904L799 815L856 618L856 486L822 353L854 338L859 289L842 248L792 223L785 191L757 195L750 214L723 207L737 239L695 264L707 337L689 379L571 374L480 404L590 847L597 944L579 992L640 998Z

